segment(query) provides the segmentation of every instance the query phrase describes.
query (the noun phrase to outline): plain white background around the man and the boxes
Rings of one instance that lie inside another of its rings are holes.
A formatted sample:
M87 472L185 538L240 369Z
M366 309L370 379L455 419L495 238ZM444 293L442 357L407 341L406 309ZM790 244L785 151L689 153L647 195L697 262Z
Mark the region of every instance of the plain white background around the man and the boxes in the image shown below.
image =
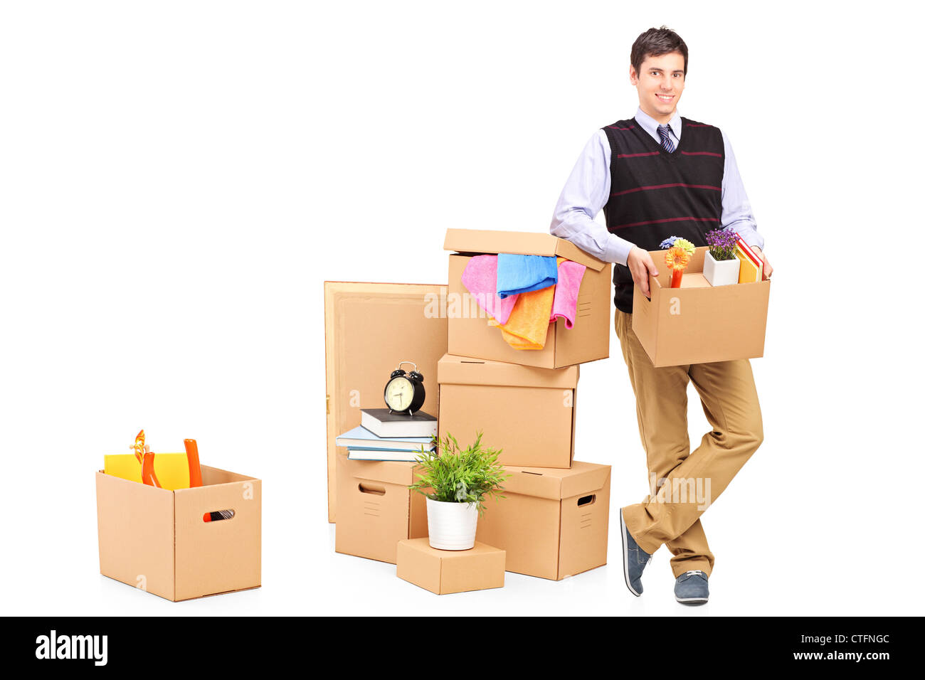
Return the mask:
M0 608L918 613L908 7L4 3ZM613 466L608 566L438 599L335 554L323 281L446 282L445 229L548 230L586 140L634 114L630 45L663 23L690 50L679 110L729 135L775 267L766 439L704 515L711 601L674 602L664 549L642 598L623 585L616 513L648 480L615 336L577 402L576 457ZM264 480L262 588L173 604L99 575L93 471L141 427Z

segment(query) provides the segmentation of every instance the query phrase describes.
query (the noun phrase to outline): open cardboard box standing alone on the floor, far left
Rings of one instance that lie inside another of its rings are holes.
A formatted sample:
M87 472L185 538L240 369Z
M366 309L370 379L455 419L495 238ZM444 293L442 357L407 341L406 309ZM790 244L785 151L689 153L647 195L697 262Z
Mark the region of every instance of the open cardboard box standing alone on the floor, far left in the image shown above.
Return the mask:
M100 574L173 601L260 586L260 480L202 469L173 491L96 473ZM234 516L203 522L217 510Z

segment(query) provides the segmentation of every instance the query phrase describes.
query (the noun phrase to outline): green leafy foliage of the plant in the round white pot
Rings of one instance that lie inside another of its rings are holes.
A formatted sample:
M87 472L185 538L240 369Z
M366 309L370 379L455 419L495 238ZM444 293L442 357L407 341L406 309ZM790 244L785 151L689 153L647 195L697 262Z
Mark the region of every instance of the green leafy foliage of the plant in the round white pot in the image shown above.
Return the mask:
M498 492L504 489L501 482L510 475L498 464L500 449L482 448L481 432L465 451L449 432L444 439L435 436L431 441L438 451L421 452L417 457L421 472L408 488L432 501L475 503L480 516L485 511L486 495L504 498Z

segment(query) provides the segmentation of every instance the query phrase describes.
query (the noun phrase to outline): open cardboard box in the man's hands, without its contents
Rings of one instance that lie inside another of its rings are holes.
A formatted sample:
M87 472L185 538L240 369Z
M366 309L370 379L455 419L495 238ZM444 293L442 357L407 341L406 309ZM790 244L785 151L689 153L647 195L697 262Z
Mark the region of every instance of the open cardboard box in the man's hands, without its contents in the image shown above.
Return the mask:
M671 288L665 251L652 251L658 277L649 277L648 300L633 291L633 330L655 366L708 364L764 355L771 281L729 286L704 285L703 258L697 248L681 279Z

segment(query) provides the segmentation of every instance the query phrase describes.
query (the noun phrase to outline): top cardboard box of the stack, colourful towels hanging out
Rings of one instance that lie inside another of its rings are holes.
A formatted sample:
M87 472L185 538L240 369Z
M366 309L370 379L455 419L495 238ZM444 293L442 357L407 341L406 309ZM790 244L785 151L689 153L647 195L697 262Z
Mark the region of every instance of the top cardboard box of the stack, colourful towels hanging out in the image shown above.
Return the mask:
M606 359L611 352L611 264L601 262L570 241L547 233L447 229L443 249L450 255L447 298L450 354L544 368ZM476 254L560 255L587 267L578 290L573 328L549 325L542 350L515 350L488 326L488 316L462 285L462 272Z

